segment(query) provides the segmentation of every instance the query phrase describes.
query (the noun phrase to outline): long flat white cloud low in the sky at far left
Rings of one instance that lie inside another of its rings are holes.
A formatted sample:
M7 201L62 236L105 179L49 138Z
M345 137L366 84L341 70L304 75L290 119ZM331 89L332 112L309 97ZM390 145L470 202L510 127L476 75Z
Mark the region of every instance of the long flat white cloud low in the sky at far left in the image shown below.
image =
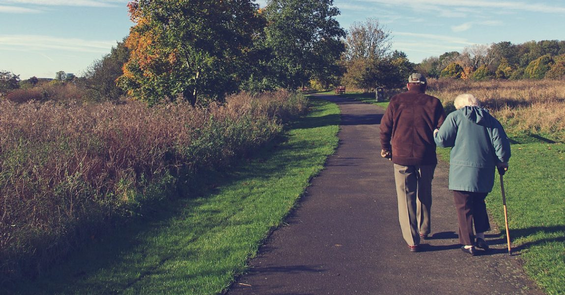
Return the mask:
M0 35L0 49L43 51L48 49L107 53L116 41L89 41L79 38L60 38L38 35Z

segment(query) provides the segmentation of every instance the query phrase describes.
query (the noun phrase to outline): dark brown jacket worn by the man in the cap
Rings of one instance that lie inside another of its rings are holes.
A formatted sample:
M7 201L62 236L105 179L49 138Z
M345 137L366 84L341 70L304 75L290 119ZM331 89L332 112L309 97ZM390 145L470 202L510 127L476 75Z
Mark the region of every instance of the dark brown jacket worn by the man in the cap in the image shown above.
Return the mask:
M381 146L403 166L437 164L433 130L445 120L440 99L409 90L390 98L381 119Z

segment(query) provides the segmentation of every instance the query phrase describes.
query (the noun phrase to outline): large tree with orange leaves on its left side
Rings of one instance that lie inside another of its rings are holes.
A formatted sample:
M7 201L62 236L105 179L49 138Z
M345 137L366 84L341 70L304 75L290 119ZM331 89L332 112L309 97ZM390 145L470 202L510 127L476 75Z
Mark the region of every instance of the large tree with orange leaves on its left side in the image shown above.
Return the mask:
M134 0L119 85L150 104L222 99L245 80L264 19L250 0Z

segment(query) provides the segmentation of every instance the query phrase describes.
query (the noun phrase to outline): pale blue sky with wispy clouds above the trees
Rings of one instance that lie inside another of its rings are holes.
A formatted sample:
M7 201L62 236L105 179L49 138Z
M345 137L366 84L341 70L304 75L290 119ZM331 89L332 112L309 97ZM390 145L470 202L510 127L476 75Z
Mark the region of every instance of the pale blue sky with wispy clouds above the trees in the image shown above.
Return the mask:
M0 0L0 70L82 75L127 36L127 0ZM257 3L264 5L265 0ZM415 63L473 44L565 40L564 1L334 0L337 20L377 18Z

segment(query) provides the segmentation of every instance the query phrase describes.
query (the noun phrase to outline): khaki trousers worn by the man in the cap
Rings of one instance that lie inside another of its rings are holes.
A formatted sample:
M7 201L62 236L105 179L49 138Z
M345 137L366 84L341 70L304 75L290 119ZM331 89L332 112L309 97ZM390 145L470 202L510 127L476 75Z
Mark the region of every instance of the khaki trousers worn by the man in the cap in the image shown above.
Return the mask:
M394 164L398 220L408 245L420 244L420 233L431 233L432 180L436 165Z

